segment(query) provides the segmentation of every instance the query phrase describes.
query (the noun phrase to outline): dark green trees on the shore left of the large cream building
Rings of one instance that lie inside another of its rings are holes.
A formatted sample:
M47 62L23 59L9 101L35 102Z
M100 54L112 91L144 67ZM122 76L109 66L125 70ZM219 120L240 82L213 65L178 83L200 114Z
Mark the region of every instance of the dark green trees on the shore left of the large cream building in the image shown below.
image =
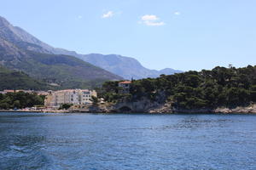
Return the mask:
M0 94L0 109L22 109L44 105L44 96L24 92Z

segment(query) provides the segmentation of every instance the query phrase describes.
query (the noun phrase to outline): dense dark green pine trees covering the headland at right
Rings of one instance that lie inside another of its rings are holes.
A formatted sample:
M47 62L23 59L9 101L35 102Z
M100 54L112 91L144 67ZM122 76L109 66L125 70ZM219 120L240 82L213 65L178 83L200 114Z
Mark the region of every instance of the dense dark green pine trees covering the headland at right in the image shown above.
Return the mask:
M130 94L119 94L118 82L105 82L98 90L107 101L150 99L170 102L180 109L236 107L256 102L256 66L216 67L132 81Z

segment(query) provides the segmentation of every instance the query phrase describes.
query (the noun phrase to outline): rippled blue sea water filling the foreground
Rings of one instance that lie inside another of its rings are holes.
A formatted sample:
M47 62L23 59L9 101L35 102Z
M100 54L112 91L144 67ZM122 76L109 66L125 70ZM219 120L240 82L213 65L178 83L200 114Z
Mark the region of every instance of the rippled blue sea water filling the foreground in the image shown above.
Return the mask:
M256 169L256 116L0 113L0 169Z

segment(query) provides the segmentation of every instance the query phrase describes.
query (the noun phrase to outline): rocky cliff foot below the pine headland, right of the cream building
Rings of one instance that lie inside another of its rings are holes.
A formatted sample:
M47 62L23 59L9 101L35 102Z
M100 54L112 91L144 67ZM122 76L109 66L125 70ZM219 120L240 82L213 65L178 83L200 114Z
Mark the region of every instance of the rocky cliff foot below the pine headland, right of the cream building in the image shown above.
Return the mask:
M236 108L202 108L202 109L177 109L172 107L171 103L160 104L143 99L137 102L119 102L119 103L104 103L98 105L90 105L85 109L76 109L72 112L89 112L89 113L150 113L150 114L256 114L256 104L236 107Z

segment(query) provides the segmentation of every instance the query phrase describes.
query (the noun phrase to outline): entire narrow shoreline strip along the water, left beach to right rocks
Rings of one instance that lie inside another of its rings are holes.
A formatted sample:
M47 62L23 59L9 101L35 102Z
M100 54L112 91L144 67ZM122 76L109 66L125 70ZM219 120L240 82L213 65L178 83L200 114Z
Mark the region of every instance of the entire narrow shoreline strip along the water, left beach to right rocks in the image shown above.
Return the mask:
M256 104L246 107L226 108L219 107L216 109L176 109L172 108L171 104L157 105L152 103L145 105L140 102L105 104L105 105L90 105L86 108L71 108L69 110L39 110L39 111L24 111L24 110L0 110L0 112L35 112L35 113L148 113L148 114L256 114Z

